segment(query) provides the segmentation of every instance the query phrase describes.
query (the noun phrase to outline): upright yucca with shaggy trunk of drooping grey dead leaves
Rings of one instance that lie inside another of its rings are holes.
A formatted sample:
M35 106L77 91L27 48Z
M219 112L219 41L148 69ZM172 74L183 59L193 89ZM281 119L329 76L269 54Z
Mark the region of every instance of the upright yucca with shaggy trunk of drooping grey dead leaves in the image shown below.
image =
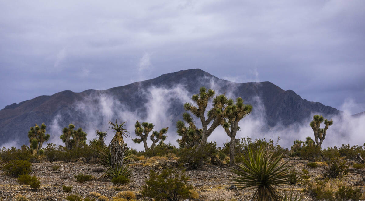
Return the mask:
M112 141L109 144L109 150L111 154L110 167L112 169L118 169L123 167L124 162L124 137L127 137L127 130L124 129L125 121L122 124L118 124L118 121L115 121L115 124L111 121L109 123L109 129L115 131L115 135ZM128 136L130 137L130 136Z

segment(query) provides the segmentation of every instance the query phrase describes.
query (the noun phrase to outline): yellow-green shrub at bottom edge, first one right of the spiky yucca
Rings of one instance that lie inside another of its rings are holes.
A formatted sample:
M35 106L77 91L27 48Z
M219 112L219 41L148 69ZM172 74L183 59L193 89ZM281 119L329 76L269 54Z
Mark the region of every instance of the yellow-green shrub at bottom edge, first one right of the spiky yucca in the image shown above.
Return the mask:
M333 200L333 190L327 188L324 181L305 182L303 192L307 193L312 200Z

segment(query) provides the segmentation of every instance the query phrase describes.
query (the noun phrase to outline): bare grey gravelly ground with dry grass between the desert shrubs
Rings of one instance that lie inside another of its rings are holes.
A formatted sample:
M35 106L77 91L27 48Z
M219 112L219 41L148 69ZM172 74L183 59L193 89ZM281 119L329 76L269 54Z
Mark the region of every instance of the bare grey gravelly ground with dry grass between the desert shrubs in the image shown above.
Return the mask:
M306 167L305 160L298 159L282 159L282 162L289 160L287 163L293 169L301 171L303 168L309 171L311 175L311 180L314 177L321 178L320 168L309 168ZM160 161L163 163L163 161ZM174 159L169 159L170 163L174 163ZM85 183L77 182L73 177L74 174L84 173L93 175L95 178L100 177L103 173L93 172L96 168L99 168L97 164L88 164L82 162L76 163L65 163L65 162L43 162L43 163L33 163L31 176L35 175L41 181L41 187L39 189L31 189L29 186L19 185L16 182L16 178L11 178L10 176L0 175L0 197L3 200L15 200L17 194L21 194L28 197L28 200L65 200L70 194L80 194L83 197L89 196L90 192L96 191L101 195L108 198L112 198L119 193L119 191L130 190L134 191L137 199L141 199L141 195L138 191L142 190L142 185L145 184L144 180L149 178L149 170L151 168L156 171L161 171L161 166L155 166L146 164L145 160L138 162L133 162L134 166L131 168L134 170L131 183L124 186L115 186L111 182L103 181L87 181ZM53 166L60 166L57 170L53 170ZM0 173L3 173L0 171ZM200 170L187 170L185 172L190 177L189 182L195 186L196 191L199 193L198 200L211 200L222 198L224 200L230 200L231 198L236 198L237 200L250 200L254 190L251 189L235 189L232 187L232 182L230 181L231 176L234 176L229 168L226 166L217 167L206 165ZM349 173L341 178L331 179L330 182L334 188L345 185L353 186L354 183L361 180L361 175L355 173ZM71 193L65 193L62 190L62 185L73 186ZM365 192L365 187L359 187L362 193ZM300 183L296 185L285 185L285 189L294 190L295 193L299 192L299 195L303 197L303 200L311 200L306 193L302 193L302 186Z

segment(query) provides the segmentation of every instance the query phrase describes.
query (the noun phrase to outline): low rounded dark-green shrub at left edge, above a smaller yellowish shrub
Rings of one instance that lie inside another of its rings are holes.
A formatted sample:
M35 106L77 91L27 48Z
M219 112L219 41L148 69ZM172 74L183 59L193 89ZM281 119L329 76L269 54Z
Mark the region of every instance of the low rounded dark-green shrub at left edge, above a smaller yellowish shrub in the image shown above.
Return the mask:
M11 160L3 166L6 175L18 177L21 174L28 174L31 171L32 164L24 160Z

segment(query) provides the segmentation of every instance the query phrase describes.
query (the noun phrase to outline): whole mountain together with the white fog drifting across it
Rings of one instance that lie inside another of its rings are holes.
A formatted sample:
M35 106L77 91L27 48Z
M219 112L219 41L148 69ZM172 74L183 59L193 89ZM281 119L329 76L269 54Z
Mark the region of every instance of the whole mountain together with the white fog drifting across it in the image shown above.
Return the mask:
M47 133L51 135L47 143L62 144L59 139L62 128L70 123L76 128L82 127L88 133L87 138L92 139L96 129L108 129L108 120L127 121L126 128L132 137L135 137L136 120L152 122L154 130L168 126L166 141L177 144L176 121L182 119L183 104L192 102L191 96L198 93L201 86L212 88L217 94L226 93L229 98L242 97L246 104L253 105L253 112L240 122L241 131L237 138L280 137L280 144L288 147L295 139L304 140L306 136L312 136L309 122L314 114L322 114L334 120L323 147L358 144L359 140L365 142L364 135L359 135L365 130L361 123L365 122L365 115L350 116L346 111L307 101L294 91L285 91L269 81L235 83L201 69L189 69L108 90L62 91L8 105L0 110L1 146L27 144L30 126L42 122L45 122ZM108 132L107 140L110 141L113 135ZM228 137L220 127L208 138L209 141L217 141L219 146L226 139ZM130 147L143 149L143 145L134 144L131 139L127 143Z

